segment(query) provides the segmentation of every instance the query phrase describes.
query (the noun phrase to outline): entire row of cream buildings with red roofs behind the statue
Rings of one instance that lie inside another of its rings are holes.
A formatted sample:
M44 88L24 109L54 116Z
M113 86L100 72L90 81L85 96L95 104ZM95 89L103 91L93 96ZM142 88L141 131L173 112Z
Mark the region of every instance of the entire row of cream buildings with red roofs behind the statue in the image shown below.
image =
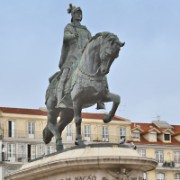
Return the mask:
M164 121L132 123L113 117L104 124L103 114L83 113L82 136L88 143L133 142L141 156L155 158L158 167L144 174L146 180L180 180L180 125ZM45 145L42 130L46 126L44 109L0 107L0 180L24 163L56 152L55 140ZM63 131L65 148L74 146L75 125L72 121Z

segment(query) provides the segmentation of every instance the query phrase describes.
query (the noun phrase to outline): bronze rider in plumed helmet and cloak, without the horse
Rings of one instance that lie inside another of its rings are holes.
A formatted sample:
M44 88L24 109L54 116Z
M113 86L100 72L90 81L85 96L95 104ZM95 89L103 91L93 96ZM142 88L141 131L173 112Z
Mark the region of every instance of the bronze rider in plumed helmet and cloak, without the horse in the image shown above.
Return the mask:
M80 61L83 49L91 39L91 33L86 26L81 25L82 10L80 7L69 5L68 13L71 13L71 23L67 24L64 29L63 46L61 49L61 57L59 68L61 69L61 77L57 88L57 106L60 107L61 99L65 93L65 84L70 78L74 68ZM68 86L70 88L70 86ZM104 104L98 103L98 109L103 109Z

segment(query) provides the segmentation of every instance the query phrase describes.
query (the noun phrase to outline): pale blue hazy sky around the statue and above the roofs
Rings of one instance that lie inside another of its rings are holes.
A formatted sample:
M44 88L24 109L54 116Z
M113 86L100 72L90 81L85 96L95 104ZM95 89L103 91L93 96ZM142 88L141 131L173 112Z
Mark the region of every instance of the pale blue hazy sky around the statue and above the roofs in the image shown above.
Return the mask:
M110 91L121 96L116 115L179 124L179 0L0 0L0 106L45 107L69 3L82 8L92 35L110 31L126 42L108 74Z

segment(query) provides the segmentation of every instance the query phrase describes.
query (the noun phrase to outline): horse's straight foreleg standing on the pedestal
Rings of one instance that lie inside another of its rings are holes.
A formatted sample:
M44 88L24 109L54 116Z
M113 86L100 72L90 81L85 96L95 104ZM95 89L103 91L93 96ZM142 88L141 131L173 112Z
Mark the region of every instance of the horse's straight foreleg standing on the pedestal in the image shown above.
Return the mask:
M74 107L74 120L75 120L75 124L76 124L76 141L75 141L75 144L76 145L84 145L84 142L82 140L82 135L81 135L82 105L80 102L74 101L73 107Z

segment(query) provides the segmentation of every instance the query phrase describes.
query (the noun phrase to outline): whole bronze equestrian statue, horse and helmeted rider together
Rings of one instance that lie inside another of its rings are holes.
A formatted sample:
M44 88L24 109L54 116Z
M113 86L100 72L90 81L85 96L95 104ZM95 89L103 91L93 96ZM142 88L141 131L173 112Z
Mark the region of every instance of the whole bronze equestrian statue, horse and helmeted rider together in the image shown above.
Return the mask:
M109 92L106 75L125 44L110 32L91 37L87 28L80 25L82 10L70 5L68 12L72 19L65 27L59 64L61 71L49 79L46 91L48 121L43 130L43 140L48 144L54 136L57 151L63 149L61 134L73 118L76 124L75 144L84 144L81 136L83 108L94 104L103 108L104 102L113 102L103 121L108 123L115 115L120 96ZM57 122L58 117L60 120Z

